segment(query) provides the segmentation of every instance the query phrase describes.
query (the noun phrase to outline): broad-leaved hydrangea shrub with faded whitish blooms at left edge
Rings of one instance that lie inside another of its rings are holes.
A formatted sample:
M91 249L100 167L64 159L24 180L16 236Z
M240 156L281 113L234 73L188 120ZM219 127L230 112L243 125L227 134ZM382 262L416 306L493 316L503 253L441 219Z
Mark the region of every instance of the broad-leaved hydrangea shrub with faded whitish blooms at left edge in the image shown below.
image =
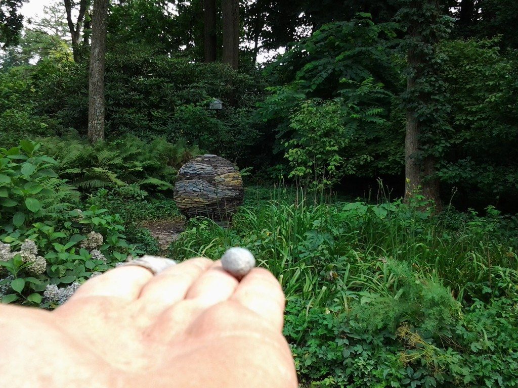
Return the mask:
M42 298L47 286L106 271L132 247L119 215L95 205L71 210L79 193L53 171L54 159L36 155L39 148L30 141L0 148L0 282L10 283L4 303L52 307Z

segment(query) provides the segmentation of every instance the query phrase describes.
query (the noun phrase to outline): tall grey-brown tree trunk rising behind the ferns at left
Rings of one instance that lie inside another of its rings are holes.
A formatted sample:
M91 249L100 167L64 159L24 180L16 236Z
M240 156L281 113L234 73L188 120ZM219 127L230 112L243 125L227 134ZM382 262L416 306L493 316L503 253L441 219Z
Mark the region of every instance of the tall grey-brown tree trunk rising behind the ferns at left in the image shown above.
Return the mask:
M107 13L108 0L94 0L88 82L88 140L91 143L104 139L104 63Z

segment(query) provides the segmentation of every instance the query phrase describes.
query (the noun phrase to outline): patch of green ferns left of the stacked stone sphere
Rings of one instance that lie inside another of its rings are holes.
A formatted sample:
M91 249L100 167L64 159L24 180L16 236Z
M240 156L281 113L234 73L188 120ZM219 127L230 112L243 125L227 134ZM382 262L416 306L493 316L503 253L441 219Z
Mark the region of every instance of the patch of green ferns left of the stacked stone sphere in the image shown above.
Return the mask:
M196 147L126 136L107 143L41 139L42 152L58 160L56 171L81 190L138 184L152 191L172 189L178 169L197 155Z

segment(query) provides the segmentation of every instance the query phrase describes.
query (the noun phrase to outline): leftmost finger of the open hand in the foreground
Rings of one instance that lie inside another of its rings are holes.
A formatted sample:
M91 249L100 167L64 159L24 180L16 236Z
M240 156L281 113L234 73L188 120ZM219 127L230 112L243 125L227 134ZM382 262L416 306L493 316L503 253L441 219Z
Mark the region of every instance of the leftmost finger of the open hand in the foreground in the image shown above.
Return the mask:
M152 277L153 274L149 270L137 265L114 268L89 279L79 287L70 300L107 296L132 302L138 298L140 290Z

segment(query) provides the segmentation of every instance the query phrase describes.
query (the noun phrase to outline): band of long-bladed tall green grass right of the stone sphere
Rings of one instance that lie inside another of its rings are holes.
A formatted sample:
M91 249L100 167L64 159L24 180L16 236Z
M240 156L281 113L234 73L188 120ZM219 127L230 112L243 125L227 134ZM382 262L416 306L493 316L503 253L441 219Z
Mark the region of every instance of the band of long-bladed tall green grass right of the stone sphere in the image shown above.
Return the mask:
M398 263L411 267L416 279L441 282L458 300L469 301L518 283L517 242L509 225L493 209L488 217L434 216L399 202L261 200L242 207L228 229L191 220L171 254L217 259L228 247L247 247L287 297L313 305L348 308L351 300L368 301L373 294L395 297Z

